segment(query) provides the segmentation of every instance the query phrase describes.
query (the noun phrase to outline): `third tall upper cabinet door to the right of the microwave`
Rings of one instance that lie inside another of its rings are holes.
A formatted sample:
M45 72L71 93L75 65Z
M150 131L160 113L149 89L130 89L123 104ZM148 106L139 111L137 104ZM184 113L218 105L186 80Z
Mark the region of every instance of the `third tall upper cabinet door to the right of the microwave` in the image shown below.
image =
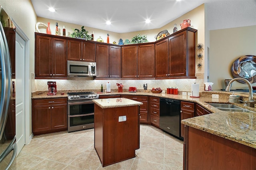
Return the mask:
M137 78L137 45L122 47L122 78Z

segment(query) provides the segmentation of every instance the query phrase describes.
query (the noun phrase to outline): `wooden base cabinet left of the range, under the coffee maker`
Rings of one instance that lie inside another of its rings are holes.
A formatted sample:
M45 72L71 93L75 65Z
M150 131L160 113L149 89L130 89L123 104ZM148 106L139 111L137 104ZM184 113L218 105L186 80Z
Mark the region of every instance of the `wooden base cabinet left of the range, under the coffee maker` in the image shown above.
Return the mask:
M34 135L67 129L66 98L32 100L32 132Z

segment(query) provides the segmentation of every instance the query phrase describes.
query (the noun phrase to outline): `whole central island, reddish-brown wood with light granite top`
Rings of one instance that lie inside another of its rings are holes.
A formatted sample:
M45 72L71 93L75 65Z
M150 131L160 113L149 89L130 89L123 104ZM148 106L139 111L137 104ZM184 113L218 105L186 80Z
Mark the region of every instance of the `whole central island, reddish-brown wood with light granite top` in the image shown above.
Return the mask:
M94 148L102 166L135 157L140 148L140 105L126 99L94 99Z

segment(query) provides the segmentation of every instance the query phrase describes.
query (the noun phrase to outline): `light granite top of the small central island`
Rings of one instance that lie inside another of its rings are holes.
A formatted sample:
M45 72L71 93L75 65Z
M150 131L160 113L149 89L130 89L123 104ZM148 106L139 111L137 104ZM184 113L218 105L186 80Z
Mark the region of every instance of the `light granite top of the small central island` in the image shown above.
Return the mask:
M141 102L126 98L93 99L92 101L102 109L143 105Z

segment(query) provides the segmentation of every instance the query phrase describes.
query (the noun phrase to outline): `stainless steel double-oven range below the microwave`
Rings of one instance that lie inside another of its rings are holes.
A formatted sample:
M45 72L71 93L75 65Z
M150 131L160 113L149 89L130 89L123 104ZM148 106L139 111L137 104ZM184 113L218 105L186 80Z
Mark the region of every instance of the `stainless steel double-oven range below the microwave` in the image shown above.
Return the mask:
M68 93L68 132L94 128L94 92Z

